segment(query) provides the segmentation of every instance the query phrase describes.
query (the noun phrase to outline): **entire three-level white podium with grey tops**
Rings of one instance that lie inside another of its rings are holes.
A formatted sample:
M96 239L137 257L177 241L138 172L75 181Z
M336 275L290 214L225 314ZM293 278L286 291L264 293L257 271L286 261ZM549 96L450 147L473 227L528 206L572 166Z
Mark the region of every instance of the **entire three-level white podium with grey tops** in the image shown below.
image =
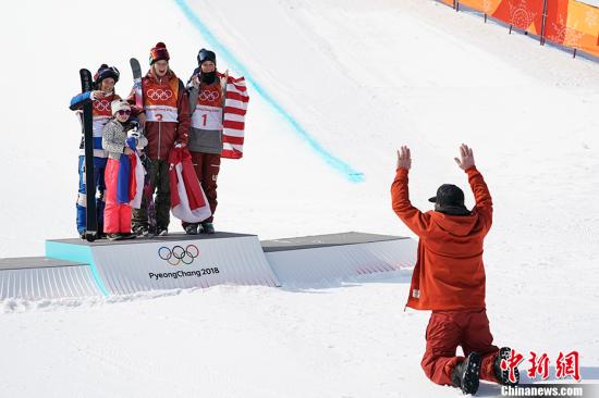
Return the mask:
M82 298L261 285L322 287L365 274L412 270L416 242L342 233L274 240L249 234L171 234L88 242L46 240L46 257L0 259L0 299Z

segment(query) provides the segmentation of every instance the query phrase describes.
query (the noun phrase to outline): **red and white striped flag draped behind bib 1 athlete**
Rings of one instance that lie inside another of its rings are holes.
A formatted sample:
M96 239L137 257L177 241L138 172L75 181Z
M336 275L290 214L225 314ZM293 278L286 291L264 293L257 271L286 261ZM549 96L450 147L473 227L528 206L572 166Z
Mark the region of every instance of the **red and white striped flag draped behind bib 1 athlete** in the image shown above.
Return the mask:
M245 113L248 101L245 78L228 76L222 122L222 158L241 159L243 157Z

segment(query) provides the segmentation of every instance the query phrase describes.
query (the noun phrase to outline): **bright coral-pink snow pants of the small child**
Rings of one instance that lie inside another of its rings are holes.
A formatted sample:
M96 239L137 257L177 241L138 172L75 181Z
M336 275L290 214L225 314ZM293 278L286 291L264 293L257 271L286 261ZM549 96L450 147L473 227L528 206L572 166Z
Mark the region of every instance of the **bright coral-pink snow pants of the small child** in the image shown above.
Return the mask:
M119 161L109 159L106 166L106 208L103 211L103 232L107 234L131 233L131 206L119 203L117 189L119 182Z

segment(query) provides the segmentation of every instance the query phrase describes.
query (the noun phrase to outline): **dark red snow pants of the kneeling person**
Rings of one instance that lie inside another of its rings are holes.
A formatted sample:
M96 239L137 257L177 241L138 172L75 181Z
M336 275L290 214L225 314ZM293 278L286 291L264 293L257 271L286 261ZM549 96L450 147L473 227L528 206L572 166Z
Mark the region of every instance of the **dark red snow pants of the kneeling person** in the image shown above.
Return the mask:
M486 310L433 311L426 329L426 351L420 364L433 383L453 385L453 368L464 360L455 356L455 350L462 346L466 357L470 352L480 353L480 378L497 383L493 362L499 349L492 343Z

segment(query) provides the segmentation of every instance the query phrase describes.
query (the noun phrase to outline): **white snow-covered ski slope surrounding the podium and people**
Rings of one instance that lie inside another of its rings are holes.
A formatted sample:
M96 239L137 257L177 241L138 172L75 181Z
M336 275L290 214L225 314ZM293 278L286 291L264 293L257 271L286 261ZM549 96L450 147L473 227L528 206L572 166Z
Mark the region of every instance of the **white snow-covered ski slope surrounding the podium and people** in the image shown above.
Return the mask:
M2 5L0 257L75 236L80 127L68 103L80 67L117 65L126 95L129 58L144 63L157 41L184 79L198 49L215 47L180 4ZM431 1L188 5L279 109L364 173L349 182L250 87L245 157L219 176L218 229L412 236L390 207L395 148L412 148L411 196L430 209L442 183L469 192L452 159L466 142L494 200L485 262L496 343L553 359L578 350L583 377L598 383L598 64ZM7 300L0 396L461 396L420 370L428 313L403 311L408 282L406 271L305 288Z

